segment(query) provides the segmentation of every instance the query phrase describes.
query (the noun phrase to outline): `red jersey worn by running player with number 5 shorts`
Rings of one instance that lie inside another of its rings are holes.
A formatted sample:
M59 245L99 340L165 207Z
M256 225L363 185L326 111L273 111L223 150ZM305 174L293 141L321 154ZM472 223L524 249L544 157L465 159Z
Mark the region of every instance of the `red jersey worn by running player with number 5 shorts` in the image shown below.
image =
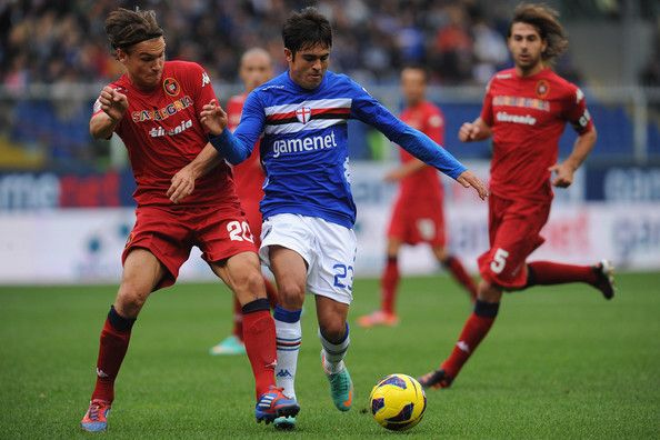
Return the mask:
M492 128L490 190L541 202L552 200L548 168L557 163L566 123L580 134L593 128L582 91L551 69L530 77L516 69L497 73L487 86L481 119Z

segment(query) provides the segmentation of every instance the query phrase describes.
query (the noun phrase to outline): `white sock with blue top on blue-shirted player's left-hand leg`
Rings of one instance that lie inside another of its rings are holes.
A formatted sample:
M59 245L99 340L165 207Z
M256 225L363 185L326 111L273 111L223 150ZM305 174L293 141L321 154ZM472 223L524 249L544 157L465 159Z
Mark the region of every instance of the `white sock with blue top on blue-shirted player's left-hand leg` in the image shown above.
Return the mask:
M302 340L302 329L300 328L300 311L288 312L287 320L291 321L291 316L297 313L298 320L294 322L287 322L279 320L282 313L278 313L276 307L276 342L278 348L278 366L276 368L276 383L283 388L284 396L296 399L296 368L298 366L298 352L300 351L300 342ZM280 309L282 310L282 309ZM294 318L294 317L293 317Z

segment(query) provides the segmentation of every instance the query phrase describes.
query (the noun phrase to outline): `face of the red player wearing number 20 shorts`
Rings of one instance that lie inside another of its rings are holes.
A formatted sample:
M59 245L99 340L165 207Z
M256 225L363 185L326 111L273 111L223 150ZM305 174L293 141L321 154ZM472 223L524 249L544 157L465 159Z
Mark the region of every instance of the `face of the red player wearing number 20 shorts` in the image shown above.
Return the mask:
M126 67L136 87L150 90L160 86L164 48L164 39L159 37L133 44L128 51L118 52L119 61Z

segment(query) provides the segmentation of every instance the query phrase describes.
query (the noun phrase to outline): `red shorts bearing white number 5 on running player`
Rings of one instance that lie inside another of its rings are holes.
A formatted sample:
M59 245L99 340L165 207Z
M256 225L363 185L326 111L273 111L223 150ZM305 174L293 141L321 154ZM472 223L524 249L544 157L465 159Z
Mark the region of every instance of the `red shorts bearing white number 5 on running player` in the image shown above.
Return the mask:
M550 203L502 199L488 200L490 249L478 258L481 277L502 288L527 283L524 261L546 241L541 229L550 216Z

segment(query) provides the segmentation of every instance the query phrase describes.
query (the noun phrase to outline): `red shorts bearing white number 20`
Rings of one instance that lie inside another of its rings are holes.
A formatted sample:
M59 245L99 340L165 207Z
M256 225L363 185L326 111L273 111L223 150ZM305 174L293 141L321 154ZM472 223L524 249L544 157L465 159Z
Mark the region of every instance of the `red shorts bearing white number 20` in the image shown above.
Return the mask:
M174 283L193 246L202 251L207 262L246 251L257 252L250 227L238 203L220 208L139 207L136 217L121 262L126 262L133 249L148 249L168 270L157 289Z

